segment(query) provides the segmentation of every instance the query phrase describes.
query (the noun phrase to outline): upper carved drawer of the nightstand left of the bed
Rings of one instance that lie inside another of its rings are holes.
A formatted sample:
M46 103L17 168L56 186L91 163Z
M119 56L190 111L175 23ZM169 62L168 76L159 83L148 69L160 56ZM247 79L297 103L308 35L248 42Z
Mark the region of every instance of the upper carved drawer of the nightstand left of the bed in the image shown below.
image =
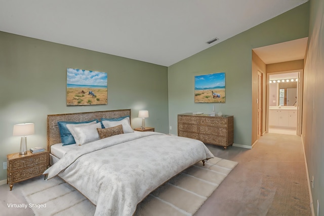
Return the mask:
M15 171L22 168L28 168L31 166L35 166L37 164L46 163L47 162L47 154L35 153L33 157L19 158L8 161L8 168L11 171Z

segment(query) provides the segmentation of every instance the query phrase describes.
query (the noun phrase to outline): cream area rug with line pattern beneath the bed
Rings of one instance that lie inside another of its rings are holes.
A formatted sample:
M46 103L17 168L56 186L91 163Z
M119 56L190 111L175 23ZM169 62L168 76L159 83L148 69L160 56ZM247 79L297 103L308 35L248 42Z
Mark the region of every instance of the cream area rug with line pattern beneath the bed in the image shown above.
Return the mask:
M148 195L135 215L193 215L236 165L217 157L205 166L199 162ZM35 215L93 215L95 211L86 197L60 178L30 182L23 194L36 205Z

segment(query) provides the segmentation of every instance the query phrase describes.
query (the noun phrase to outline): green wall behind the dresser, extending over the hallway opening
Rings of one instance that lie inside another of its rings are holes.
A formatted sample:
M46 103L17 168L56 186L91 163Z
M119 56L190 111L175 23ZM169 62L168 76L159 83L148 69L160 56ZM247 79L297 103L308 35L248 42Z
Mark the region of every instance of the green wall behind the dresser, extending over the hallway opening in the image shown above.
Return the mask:
M251 147L252 49L307 37L308 25L306 3L170 66L169 132L177 134L177 114L210 113L215 105L216 113L234 115L234 143ZM194 103L194 76L217 72L226 73L226 103Z

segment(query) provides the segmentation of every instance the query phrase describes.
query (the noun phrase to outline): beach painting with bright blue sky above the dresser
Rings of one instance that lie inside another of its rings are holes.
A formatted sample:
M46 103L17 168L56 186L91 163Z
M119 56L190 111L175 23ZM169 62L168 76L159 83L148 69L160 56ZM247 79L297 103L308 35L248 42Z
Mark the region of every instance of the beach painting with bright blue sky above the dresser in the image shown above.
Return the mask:
M195 103L225 103L225 72L194 76Z

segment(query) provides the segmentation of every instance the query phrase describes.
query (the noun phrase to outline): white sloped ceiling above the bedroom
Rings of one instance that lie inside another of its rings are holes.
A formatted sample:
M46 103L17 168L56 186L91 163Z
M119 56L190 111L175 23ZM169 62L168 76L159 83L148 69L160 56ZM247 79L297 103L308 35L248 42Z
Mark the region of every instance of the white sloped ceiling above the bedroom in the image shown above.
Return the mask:
M307 1L0 0L0 31L170 66Z

